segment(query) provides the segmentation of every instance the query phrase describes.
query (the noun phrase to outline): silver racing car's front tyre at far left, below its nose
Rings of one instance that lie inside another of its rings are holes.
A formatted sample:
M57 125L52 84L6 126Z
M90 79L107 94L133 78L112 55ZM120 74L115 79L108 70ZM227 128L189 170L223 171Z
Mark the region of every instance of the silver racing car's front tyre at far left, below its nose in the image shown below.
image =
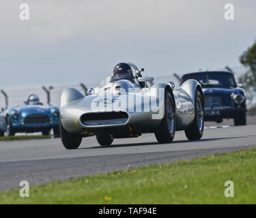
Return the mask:
M59 121L59 133L61 142L66 149L77 149L82 141L82 136L79 134L70 134L63 128L61 121Z

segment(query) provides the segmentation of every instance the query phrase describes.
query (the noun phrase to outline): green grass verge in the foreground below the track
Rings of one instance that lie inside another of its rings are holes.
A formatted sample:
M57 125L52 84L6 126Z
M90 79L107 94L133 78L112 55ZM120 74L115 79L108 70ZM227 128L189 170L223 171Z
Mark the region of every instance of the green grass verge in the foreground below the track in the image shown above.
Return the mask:
M225 181L234 197L226 198ZM1 204L255 204L256 149L85 176L0 193Z

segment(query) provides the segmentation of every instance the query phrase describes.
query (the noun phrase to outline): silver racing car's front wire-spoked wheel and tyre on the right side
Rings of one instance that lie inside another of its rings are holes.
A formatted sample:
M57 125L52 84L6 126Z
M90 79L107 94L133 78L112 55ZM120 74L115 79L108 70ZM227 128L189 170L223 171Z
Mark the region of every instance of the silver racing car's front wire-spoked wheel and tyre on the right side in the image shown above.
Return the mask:
M171 143L175 136L175 106L173 98L165 91L165 116L155 131L159 143Z

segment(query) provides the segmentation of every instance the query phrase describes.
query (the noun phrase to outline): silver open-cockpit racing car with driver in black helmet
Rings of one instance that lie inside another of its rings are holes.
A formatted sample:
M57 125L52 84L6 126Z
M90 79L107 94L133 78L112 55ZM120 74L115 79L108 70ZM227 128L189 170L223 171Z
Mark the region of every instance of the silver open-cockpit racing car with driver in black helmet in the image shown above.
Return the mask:
M173 141L184 130L188 140L203 135L204 99L201 85L186 80L153 84L133 63L119 63L100 87L83 95L74 88L61 93L60 136L66 149L77 149L82 138L96 136L101 146L114 138L154 133L160 143Z

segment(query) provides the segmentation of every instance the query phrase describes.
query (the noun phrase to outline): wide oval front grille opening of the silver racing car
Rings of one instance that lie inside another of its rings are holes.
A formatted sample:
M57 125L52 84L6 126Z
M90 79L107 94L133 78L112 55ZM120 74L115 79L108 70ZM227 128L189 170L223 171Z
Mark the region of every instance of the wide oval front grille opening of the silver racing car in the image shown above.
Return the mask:
M128 114L126 112L98 112L81 116L83 125L113 125L126 123L127 120Z

